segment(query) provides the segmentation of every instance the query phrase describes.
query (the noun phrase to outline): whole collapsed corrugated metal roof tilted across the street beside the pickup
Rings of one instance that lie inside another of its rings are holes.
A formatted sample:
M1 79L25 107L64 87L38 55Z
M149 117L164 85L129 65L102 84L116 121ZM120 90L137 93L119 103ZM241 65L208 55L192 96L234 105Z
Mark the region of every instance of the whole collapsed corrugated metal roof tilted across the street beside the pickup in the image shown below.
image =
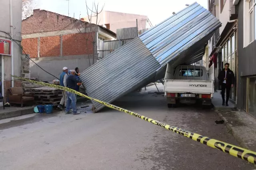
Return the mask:
M208 10L191 4L82 72L87 94L111 103L163 78L167 63L176 67L199 61L220 26ZM104 107L92 102L95 112Z

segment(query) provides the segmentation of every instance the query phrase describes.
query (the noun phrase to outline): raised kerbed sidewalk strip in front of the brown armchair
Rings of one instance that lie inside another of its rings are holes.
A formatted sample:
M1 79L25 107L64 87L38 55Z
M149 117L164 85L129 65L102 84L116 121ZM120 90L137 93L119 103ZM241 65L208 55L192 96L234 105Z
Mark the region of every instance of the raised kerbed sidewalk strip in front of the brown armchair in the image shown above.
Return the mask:
M17 117L34 113L34 106L31 107L0 107L0 120L10 117Z

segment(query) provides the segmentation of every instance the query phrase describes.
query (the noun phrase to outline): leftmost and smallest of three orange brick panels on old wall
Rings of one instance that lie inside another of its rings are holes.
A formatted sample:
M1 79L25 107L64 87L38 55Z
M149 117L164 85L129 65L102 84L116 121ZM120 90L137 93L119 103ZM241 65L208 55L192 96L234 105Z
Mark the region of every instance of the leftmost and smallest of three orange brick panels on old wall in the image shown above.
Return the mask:
M26 53L29 54L30 57L32 58L37 57L37 42L38 42L37 38L22 39L22 42L21 42L21 45L24 51L26 51Z

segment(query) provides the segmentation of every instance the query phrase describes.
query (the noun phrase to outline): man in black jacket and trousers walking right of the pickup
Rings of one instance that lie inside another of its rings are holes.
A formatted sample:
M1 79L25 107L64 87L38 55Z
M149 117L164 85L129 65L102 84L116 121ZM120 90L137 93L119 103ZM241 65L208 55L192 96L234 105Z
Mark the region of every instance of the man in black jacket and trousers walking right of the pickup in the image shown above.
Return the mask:
M218 75L219 81L221 84L221 96L222 96L222 106L225 105L225 90L226 91L226 106L228 106L228 99L230 95L231 87L234 87L235 84L235 75L233 71L229 69L229 63L225 63L225 68L220 71Z

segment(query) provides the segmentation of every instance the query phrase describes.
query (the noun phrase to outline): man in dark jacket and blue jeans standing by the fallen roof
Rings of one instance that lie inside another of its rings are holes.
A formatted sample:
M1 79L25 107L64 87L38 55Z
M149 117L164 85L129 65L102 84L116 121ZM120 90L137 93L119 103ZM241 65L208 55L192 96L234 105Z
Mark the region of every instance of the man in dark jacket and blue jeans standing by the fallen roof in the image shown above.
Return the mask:
M70 71L70 75L67 78L67 83L68 83L68 88L73 89L73 90L76 90L77 83L82 83L82 81L80 79L76 78L75 70ZM70 105L72 106L73 115L80 114L76 111L76 95L74 93L70 93L68 91L66 93L68 96L68 101L67 101L67 106L66 106L66 114L70 113Z

